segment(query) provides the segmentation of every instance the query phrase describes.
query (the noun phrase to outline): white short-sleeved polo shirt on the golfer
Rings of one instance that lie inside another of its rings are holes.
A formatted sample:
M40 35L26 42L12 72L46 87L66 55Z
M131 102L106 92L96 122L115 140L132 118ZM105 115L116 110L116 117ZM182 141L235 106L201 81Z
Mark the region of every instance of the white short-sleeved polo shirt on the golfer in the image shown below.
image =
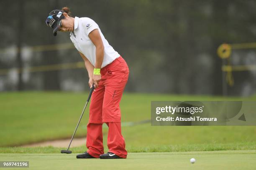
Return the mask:
M98 29L100 32L100 37L102 39L104 45L104 58L101 65L105 67L106 65L113 62L120 55L116 52L111 45L109 45L108 41L105 39L102 34L99 26L95 23L94 20L90 18L74 18L74 32L70 33L70 39L74 43L76 49L84 54L84 56L91 62L93 66L95 66L96 61L96 47L88 37L89 33L92 30Z

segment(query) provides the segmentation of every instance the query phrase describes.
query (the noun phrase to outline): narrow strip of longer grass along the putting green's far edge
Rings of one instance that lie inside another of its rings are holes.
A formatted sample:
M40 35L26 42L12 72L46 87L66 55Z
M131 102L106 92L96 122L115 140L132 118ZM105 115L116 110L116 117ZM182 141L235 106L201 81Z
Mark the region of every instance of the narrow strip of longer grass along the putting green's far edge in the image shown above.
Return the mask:
M67 148L57 147L2 147L0 153L60 153ZM179 145L149 145L128 146L129 153L144 152L190 152L190 151L217 151L217 150L256 150L256 142L245 143L210 143L210 144L179 144ZM71 148L72 153L84 153L85 146ZM108 148L105 147L105 152Z

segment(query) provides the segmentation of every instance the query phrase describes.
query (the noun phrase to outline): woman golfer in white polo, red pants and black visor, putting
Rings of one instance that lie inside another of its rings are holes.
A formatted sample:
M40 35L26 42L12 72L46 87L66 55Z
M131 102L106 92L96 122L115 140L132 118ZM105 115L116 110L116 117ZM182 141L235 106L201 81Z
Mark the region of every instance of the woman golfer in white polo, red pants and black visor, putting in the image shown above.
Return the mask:
M125 140L121 134L119 103L128 80L129 69L90 18L71 17L68 7L53 10L46 24L57 31L71 32L70 39L84 60L89 75L89 86L94 83L89 122L87 124L87 152L77 158L126 158ZM102 124L108 125L108 149L104 154Z

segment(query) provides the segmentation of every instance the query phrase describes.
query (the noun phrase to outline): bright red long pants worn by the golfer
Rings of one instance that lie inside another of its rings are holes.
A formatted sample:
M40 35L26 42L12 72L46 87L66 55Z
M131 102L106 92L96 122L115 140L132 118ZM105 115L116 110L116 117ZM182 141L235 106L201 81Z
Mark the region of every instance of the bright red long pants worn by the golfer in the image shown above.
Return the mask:
M101 80L92 93L89 123L87 125L87 152L95 158L104 153L102 123L108 125L108 149L121 158L126 158L125 140L121 134L119 103L128 80L129 68L118 57L100 70Z

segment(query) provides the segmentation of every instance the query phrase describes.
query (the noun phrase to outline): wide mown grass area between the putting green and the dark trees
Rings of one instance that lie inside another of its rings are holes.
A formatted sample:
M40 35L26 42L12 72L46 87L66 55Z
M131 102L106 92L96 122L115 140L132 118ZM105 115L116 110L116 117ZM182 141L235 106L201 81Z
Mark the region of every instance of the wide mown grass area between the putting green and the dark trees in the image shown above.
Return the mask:
M87 93L11 92L0 94L0 147L20 146L44 140L70 138L81 114ZM151 117L152 100L256 100L256 97L211 97L165 94L123 95L120 107L123 122L138 122ZM76 136L86 135L88 109ZM107 133L103 128L103 133ZM149 123L124 126L123 136L129 152L170 152L192 150L255 149L255 126L151 126ZM106 135L104 145L106 147ZM22 148L14 148L17 153ZM49 148L46 148L46 150ZM11 148L1 148L11 152ZM43 150L43 151L40 151ZM51 149L49 149L51 150ZM55 150L55 151L54 151ZM84 147L72 148L74 152ZM27 152L45 153L44 148ZM59 148L53 148L54 153Z

